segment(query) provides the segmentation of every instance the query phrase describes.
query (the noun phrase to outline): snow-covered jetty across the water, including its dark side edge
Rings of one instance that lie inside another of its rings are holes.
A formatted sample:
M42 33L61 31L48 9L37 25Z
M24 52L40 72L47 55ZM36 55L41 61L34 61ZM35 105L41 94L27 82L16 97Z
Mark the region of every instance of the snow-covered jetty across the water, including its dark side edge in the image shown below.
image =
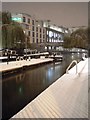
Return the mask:
M53 59L50 58L39 58L39 59L31 59L31 60L20 60L20 61L12 61L12 62L2 62L0 63L0 72L3 75L15 73L18 71L22 71L24 69L37 67L42 64L53 62Z

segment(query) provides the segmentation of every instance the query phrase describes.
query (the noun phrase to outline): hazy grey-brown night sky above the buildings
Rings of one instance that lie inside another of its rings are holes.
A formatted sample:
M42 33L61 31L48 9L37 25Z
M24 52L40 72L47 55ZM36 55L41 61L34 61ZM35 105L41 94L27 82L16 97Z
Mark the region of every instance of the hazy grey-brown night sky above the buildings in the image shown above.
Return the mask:
M88 3L86 2L4 2L2 9L28 13L36 19L48 19L59 26L88 25Z

